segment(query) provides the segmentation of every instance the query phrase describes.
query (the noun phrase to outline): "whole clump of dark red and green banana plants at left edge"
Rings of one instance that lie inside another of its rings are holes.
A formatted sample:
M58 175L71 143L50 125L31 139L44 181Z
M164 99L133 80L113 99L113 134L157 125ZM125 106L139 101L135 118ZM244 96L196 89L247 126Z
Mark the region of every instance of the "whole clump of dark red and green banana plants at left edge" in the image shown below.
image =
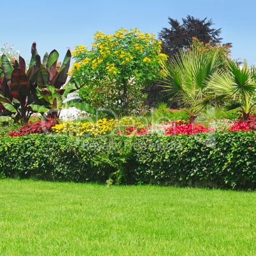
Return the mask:
M71 52L68 48L59 73L56 73L59 53L56 50L45 53L43 61L36 50L36 42L31 47L31 61L27 73L25 60L20 57L19 62L12 59L11 64L6 55L2 56L2 69L4 77L1 78L0 103L2 108L17 113L16 120L22 122L29 120L32 112L48 113L59 117L60 110L75 106L80 110L95 113L89 104L81 103L79 99L63 103L70 92L83 84L80 80L68 78ZM66 85L64 85L66 83Z

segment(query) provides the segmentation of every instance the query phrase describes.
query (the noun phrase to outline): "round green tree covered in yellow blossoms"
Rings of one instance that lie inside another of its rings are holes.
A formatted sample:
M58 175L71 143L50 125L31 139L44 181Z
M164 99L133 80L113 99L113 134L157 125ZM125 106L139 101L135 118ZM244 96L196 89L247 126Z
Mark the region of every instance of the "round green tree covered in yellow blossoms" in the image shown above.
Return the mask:
M75 63L70 74L87 83L83 89L83 93L87 93L87 102L97 104L96 101L104 98L108 108L115 105L116 109L118 106L121 111L127 111L143 96L141 89L159 78L159 55L167 59L160 53L161 42L153 34L143 34L139 29L119 29L107 36L99 31L94 40L91 50L76 46L72 52ZM106 80L112 83L107 102L104 88L99 88L99 82Z

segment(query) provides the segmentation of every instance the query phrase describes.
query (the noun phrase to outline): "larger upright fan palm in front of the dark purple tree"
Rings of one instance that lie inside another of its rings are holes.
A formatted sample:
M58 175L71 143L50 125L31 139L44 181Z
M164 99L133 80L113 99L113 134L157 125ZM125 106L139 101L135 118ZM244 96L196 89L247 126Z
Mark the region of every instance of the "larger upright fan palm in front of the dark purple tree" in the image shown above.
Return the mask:
M208 94L211 77L218 73L219 61L217 53L210 55L199 50L186 53L180 52L171 62L161 60L162 78L167 89L176 92L188 106L187 115L190 123L194 123L200 110L201 101Z

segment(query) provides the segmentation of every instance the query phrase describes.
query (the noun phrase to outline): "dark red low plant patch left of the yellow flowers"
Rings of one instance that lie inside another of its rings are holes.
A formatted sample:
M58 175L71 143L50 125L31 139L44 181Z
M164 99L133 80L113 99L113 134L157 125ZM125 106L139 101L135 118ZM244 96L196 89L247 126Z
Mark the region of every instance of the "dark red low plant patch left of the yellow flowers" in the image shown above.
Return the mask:
M58 122L55 118L47 118L47 121L39 120L36 122L28 122L23 125L16 132L10 132L9 135L11 137L14 136L23 136L26 134L34 134L34 133L45 133L52 131L52 127L56 125Z

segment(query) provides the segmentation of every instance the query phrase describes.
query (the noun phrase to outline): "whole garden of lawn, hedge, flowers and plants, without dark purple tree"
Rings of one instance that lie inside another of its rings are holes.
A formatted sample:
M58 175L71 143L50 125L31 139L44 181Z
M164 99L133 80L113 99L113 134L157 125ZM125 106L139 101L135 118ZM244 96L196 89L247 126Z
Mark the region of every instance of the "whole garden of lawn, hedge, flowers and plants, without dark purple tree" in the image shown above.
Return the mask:
M256 69L197 38L94 41L1 57L0 252L253 255Z

